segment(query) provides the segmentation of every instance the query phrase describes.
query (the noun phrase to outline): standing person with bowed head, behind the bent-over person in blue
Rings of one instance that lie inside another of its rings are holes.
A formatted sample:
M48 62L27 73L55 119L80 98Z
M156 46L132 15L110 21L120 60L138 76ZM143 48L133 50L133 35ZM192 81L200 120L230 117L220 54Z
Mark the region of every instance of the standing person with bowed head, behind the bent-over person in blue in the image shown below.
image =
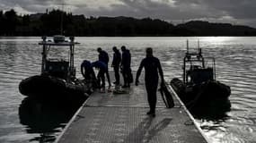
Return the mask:
M111 87L111 82L110 82L110 73L109 73L109 61L110 61L110 57L108 55L108 53L104 50L102 50L101 47L97 48L97 51L99 52L99 61L101 61L102 63L105 63L107 65L107 71L106 71L106 75L107 75L107 79L109 82L109 89Z

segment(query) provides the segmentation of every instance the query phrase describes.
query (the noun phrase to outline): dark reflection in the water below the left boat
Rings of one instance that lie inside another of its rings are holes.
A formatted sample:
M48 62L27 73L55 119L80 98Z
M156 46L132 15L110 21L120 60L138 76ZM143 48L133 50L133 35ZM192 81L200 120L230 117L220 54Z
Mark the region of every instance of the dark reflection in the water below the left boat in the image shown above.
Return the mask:
M19 107L20 122L26 126L27 133L40 134L30 139L30 142L53 142L79 106L57 102L43 103L26 97Z

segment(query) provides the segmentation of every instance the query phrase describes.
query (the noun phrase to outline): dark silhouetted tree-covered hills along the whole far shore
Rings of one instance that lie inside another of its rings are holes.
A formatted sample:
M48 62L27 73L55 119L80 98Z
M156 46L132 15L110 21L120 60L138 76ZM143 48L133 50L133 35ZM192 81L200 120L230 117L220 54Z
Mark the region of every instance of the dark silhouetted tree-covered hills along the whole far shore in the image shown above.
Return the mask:
M132 17L89 17L52 10L46 13L18 15L13 9L0 11L0 36L81 37L142 36L256 36L256 29L229 23L189 21L178 25L170 22Z

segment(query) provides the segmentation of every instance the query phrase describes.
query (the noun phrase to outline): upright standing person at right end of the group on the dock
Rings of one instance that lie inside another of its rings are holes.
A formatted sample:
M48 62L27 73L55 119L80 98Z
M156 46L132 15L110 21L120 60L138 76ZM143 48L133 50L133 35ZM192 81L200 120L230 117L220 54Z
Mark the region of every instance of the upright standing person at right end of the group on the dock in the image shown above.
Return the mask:
M122 86L122 88L129 88L130 85L128 81L128 76L129 76L129 73L131 72L131 69L130 69L131 56L126 46L121 46L121 51L122 51L121 71L124 79L124 85Z

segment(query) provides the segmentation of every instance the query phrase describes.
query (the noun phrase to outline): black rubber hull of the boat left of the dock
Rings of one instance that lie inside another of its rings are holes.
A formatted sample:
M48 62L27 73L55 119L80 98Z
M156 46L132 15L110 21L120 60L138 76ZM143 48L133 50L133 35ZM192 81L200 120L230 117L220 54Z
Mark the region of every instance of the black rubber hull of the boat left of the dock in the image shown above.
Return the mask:
M84 84L67 83L66 80L36 75L22 80L19 90L27 97L69 100L86 98L90 88Z

